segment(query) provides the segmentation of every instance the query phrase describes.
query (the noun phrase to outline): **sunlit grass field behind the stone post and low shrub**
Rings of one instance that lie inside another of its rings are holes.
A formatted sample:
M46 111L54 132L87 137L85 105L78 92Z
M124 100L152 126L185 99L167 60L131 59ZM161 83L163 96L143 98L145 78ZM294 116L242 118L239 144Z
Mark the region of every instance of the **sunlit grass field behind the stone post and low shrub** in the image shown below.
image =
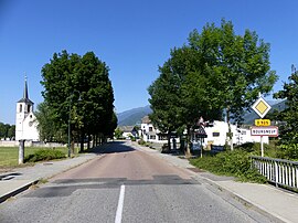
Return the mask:
M24 157L29 155L33 155L35 151L41 149L52 148L41 148L41 147L25 147L24 148ZM67 155L67 148L60 147L55 148L55 150L60 150ZM75 155L78 153L78 148L75 148ZM15 167L19 162L19 147L0 147L0 167Z

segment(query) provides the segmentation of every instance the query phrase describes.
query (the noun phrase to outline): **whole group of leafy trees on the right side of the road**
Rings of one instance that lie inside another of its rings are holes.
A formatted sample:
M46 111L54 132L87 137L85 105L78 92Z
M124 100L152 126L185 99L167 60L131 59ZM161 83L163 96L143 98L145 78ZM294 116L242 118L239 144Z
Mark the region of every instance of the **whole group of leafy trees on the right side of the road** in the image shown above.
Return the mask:
M188 44L171 50L149 86L151 121L169 137L188 129L188 141L200 117L241 123L259 93L277 81L270 71L269 44L256 32L235 34L232 22L206 24L190 33ZM230 127L230 142L233 149ZM190 153L188 147L188 153Z

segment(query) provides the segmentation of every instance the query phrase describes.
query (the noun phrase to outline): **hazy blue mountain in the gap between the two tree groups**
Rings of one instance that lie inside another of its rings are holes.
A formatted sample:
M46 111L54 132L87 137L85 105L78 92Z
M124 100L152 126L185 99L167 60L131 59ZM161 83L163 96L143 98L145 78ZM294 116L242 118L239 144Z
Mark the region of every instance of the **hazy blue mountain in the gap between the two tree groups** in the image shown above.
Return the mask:
M152 110L149 105L139 108L132 108L117 114L118 126L135 126L141 123L141 118L151 114Z

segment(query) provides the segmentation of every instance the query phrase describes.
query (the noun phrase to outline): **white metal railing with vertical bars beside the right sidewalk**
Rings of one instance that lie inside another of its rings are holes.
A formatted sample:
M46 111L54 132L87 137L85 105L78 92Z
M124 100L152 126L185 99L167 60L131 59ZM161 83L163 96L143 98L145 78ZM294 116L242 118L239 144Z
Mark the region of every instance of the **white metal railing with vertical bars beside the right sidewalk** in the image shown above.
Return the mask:
M278 185L298 189L298 162L273 159L267 157L252 156L252 167L256 168L260 174L269 182Z

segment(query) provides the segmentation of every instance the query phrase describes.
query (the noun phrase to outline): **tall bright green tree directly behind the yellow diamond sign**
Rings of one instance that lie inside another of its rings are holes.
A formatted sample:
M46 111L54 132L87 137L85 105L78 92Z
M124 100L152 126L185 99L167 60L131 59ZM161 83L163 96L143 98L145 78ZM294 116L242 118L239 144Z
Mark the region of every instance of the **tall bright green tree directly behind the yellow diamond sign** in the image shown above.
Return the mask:
M258 93L269 93L277 79L270 71L269 44L249 30L244 35L235 34L232 22L225 20L220 28L213 23L206 24L202 33L193 31L189 44L200 52L201 70L209 79L206 87L226 112L233 149L230 119L241 123Z

